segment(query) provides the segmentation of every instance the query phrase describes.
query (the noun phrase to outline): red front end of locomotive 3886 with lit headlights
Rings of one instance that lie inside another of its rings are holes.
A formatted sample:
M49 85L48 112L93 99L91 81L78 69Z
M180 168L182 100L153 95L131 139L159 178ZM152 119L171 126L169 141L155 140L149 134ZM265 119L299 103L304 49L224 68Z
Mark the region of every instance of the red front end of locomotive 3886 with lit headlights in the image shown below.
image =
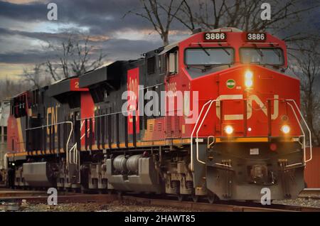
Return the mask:
M310 134L299 111L299 80L283 74L284 42L222 28L191 36L179 50L180 75L198 92L197 120L185 124L196 193L260 200L268 188L270 199L297 197L311 160Z

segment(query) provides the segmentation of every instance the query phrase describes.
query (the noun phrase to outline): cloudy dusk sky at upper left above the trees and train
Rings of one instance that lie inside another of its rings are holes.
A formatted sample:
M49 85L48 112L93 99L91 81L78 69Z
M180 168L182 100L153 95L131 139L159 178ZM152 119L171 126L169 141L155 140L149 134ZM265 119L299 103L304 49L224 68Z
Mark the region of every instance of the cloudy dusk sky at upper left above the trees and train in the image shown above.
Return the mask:
M58 5L58 21L48 21L47 4ZM23 68L50 57L47 41L59 42L68 33L88 33L91 44L106 54L106 63L139 58L161 46L151 25L127 11L137 9L139 0L0 1L0 80L15 79ZM188 34L176 26L171 41Z

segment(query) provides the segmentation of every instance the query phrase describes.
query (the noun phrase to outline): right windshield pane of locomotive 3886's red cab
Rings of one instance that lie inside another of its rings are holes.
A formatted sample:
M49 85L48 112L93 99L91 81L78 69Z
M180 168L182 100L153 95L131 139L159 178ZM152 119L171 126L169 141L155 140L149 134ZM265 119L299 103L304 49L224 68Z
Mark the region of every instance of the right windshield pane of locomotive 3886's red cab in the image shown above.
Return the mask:
M240 48L241 63L283 65L281 48Z

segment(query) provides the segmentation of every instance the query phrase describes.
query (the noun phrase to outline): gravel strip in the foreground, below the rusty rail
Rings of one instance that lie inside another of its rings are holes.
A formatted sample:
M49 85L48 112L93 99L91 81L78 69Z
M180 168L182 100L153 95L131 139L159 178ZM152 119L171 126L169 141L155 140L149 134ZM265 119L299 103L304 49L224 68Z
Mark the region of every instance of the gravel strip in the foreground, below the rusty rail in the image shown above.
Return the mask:
M21 211L25 212L185 212L190 209L169 208L141 205L137 203L60 203L58 205L22 203Z

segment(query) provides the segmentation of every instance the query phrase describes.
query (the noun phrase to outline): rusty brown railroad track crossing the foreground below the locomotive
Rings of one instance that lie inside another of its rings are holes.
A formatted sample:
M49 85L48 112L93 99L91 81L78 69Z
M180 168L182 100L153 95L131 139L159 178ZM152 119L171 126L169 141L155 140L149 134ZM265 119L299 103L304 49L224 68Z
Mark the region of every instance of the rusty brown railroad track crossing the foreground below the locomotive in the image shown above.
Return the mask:
M46 203L48 195L45 191L34 190L0 190L0 210L19 210L21 203ZM183 208L198 211L221 212L320 212L320 208L303 207L296 205L272 204L262 206L260 203L225 202L218 203L194 203L192 201L178 201L170 198L148 198L137 195L117 194L81 194L59 193L58 203L112 203L119 200L122 203L134 203L134 205L149 205L159 207ZM2 205L1 205L2 202Z

